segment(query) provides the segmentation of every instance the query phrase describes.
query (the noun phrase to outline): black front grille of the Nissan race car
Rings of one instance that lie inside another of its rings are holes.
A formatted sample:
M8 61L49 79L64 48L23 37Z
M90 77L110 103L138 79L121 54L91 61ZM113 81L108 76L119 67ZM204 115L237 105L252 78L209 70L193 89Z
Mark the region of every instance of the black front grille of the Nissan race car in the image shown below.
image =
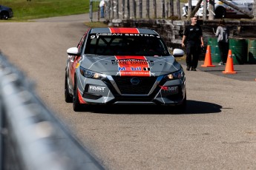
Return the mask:
M148 95L155 81L156 77L136 77L140 80L137 85L131 84L133 76L113 76L116 85L118 86L122 95Z

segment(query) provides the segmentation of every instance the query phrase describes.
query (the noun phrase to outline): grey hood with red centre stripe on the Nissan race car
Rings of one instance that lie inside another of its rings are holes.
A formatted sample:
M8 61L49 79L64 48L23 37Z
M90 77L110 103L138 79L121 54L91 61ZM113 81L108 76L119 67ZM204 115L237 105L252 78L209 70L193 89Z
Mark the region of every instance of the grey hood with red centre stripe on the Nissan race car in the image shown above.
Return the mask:
M176 72L181 66L169 56L82 55L80 66L105 75L159 76Z

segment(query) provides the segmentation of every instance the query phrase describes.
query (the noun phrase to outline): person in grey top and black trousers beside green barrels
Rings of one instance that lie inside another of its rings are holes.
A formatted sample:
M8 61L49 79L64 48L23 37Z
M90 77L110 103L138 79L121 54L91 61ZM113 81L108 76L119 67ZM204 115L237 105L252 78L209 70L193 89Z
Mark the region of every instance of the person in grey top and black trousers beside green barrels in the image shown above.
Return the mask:
M217 36L217 44L220 49L221 61L219 65L225 65L229 52L229 29L226 27L226 22L221 19L215 33Z

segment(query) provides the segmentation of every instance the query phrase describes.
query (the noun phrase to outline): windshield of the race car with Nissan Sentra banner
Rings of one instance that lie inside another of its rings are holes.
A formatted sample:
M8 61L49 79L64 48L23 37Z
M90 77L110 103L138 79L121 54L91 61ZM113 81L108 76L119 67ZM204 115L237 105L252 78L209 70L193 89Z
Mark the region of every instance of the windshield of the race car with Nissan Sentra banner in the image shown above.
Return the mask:
M158 35L90 34L85 54L167 56L169 52Z

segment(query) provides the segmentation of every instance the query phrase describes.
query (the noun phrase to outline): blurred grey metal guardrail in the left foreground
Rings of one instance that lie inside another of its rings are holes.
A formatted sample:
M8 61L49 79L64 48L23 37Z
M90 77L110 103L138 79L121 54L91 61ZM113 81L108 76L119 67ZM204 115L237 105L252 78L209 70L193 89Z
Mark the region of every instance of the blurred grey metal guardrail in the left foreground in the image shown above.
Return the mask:
M104 169L0 52L1 169Z

